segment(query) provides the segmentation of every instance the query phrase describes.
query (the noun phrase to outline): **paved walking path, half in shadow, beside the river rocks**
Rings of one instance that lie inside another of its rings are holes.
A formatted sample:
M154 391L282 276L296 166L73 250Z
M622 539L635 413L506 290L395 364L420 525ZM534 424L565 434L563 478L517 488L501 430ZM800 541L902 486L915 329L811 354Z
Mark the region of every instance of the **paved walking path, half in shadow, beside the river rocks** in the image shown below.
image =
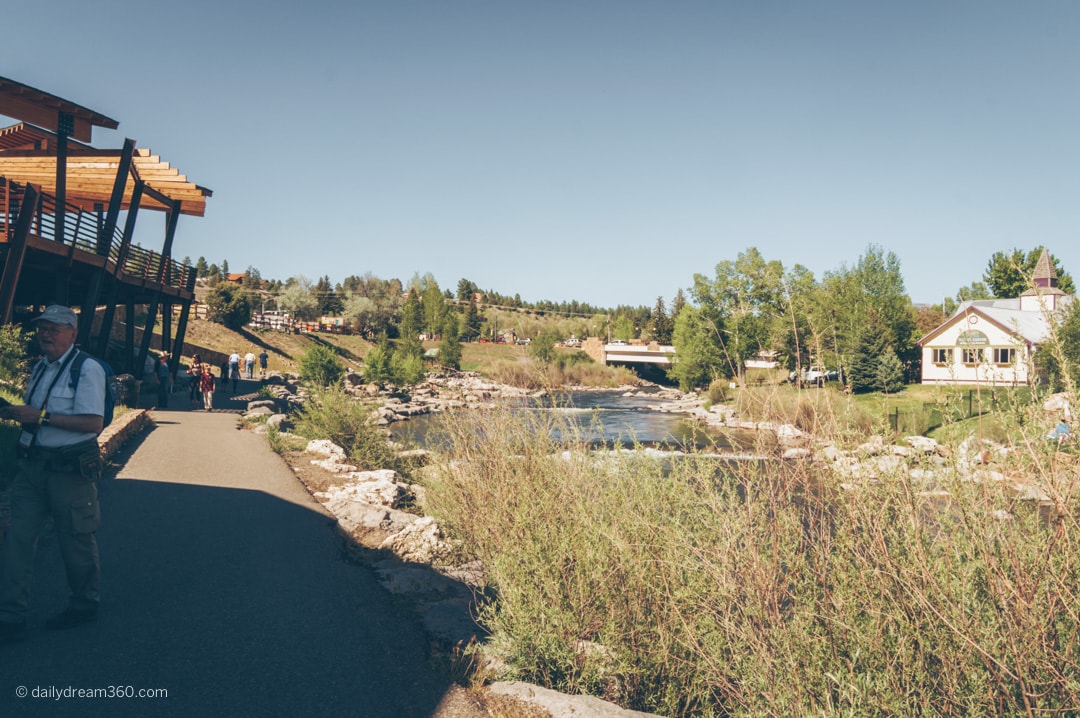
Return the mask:
M55 539L42 538L30 636L0 646L0 716L471 715L459 692L445 700L416 619L343 559L333 518L266 439L238 431L234 414L189 410L186 393L172 404L183 408L156 411L102 482L96 623L44 629L66 585Z

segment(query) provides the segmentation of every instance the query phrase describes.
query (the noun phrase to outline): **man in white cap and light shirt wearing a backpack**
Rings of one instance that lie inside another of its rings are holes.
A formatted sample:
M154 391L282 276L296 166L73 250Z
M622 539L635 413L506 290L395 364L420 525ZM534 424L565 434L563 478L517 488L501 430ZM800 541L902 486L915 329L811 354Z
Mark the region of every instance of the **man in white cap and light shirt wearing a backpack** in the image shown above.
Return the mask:
M23 424L11 527L0 554L0 642L26 636L38 534L50 517L71 594L67 608L45 626L71 628L93 621L100 600L96 480L103 469L97 435L105 422L105 369L83 362L78 390L72 389L69 367L79 353L75 311L51 304L35 323L43 357L30 372L26 404L0 407L0 418Z

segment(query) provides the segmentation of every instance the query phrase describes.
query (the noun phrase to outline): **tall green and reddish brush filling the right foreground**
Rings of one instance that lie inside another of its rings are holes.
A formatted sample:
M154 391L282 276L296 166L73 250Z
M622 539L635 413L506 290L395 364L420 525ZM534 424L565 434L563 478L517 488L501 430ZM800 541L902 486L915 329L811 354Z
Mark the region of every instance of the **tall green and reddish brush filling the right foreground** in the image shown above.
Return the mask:
M1078 471L1041 445L1004 468L1040 511L951 474L845 490L808 464L593 453L552 420L455 416L428 490L487 567L513 677L672 716L1080 710Z

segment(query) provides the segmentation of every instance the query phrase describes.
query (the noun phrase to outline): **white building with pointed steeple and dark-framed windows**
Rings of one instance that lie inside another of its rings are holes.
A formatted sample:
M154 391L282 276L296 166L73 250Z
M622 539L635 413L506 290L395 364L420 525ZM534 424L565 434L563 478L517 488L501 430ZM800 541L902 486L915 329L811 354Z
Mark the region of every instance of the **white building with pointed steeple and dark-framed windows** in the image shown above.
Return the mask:
M941 326L922 337L924 384L1028 384L1035 355L1050 337L1051 322L1074 297L1057 286L1043 249L1032 286L1014 299L966 301Z

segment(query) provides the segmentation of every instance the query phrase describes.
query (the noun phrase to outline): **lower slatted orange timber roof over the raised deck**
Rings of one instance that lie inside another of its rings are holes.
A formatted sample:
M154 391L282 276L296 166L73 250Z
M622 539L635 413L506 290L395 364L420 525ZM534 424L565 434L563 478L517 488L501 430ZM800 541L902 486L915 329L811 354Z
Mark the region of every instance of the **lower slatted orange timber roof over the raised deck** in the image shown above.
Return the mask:
M107 206L120 161L121 150L99 150L69 141L67 202L86 212L93 212L97 205ZM0 176L38 185L45 193L55 194L56 136L25 123L0 130ZM210 189L189 181L159 155L138 148L125 182L122 209L130 208L136 179L152 190L144 193L139 208L167 211L171 202L179 202L180 214L202 217L206 213L206 198L213 195Z

